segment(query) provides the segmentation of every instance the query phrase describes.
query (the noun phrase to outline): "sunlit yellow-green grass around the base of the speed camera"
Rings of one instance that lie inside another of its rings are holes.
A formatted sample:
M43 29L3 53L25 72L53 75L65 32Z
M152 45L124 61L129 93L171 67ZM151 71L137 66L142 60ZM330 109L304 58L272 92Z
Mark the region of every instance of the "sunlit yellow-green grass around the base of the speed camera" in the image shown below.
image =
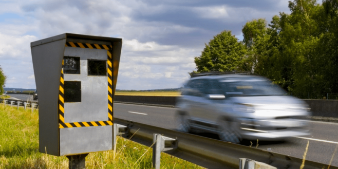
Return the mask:
M0 104L0 169L68 168L66 157L39 153L39 110ZM90 153L86 168L152 168L152 148L117 138L116 151ZM161 154L161 168L202 168Z

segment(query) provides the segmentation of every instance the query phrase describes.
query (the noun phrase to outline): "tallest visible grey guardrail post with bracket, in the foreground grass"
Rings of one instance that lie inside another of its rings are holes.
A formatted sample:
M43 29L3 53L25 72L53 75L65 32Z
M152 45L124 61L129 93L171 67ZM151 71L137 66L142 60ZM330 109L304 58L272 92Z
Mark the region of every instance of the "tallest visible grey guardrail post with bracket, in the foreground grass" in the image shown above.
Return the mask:
M165 142L169 147L165 147ZM170 143L168 143L170 142ZM153 135L153 167L160 169L161 164L161 152L165 152L171 149L177 148L177 140L162 136L160 134Z

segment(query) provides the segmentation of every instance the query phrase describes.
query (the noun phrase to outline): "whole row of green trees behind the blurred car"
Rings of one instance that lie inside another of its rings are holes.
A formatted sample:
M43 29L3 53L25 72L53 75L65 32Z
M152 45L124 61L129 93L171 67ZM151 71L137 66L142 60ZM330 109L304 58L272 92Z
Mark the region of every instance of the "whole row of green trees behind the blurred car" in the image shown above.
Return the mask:
M243 41L224 30L199 57L197 71L250 71L299 98L338 93L338 0L294 0L279 12L247 22Z

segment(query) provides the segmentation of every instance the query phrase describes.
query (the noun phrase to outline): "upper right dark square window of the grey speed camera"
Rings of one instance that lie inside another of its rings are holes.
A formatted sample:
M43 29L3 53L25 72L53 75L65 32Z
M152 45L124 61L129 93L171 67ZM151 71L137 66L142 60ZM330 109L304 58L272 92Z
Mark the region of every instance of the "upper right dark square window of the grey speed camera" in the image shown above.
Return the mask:
M99 60L88 60L88 75L107 76L107 62Z

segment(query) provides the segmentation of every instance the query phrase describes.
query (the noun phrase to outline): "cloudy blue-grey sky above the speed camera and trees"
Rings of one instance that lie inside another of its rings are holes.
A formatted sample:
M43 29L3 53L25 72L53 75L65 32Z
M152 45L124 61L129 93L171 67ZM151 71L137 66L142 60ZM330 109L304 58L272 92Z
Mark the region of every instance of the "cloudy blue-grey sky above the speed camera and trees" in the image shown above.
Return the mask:
M35 88L30 43L62 33L122 38L116 89L178 88L194 58L223 30L239 41L246 22L289 0L0 0L0 67L6 87Z

